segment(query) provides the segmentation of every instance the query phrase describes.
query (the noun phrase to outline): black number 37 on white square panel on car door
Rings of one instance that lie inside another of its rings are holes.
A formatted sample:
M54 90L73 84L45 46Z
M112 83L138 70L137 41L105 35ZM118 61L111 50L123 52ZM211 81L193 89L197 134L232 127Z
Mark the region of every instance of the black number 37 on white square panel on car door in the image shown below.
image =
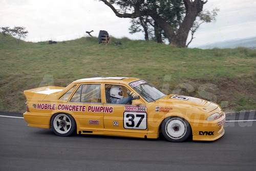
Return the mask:
M123 127L125 129L146 130L146 113L124 112Z

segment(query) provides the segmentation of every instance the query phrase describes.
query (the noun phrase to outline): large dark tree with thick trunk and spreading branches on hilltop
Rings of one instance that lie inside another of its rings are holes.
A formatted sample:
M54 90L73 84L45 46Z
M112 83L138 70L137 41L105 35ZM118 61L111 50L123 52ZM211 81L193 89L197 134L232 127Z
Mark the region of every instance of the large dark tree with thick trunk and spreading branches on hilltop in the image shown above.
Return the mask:
M100 0L109 6L116 16L137 18L150 16L159 26L169 43L186 47L190 29L202 11L205 0ZM114 6L115 5L115 6ZM117 9L117 7L119 9Z

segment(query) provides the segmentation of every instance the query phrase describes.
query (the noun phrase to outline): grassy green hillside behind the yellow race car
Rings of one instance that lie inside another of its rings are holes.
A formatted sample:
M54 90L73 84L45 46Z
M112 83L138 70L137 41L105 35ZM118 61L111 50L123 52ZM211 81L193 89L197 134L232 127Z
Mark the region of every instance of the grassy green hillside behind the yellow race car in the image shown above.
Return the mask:
M121 41L115 46L113 41ZM147 80L165 94L177 93L217 102L227 110L256 106L256 50L181 49L153 41L96 37L71 41L25 42L0 35L0 111L25 112L23 91L41 86L67 86L95 76Z

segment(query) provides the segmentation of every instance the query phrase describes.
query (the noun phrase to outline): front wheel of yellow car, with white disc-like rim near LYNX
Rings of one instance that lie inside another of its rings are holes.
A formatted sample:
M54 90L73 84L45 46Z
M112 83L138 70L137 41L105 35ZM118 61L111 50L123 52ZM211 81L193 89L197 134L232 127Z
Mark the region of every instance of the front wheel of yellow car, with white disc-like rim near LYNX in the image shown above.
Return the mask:
M163 136L171 142L183 142L191 133L189 123L185 119L179 117L165 118L161 129Z

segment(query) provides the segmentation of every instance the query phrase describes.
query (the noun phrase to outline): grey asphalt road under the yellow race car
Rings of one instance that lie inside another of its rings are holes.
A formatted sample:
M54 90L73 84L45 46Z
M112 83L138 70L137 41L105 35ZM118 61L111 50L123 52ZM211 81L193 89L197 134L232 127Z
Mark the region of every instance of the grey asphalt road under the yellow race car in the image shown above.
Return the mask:
M0 115L15 116L0 116L0 170L256 168L255 112L227 116L225 135L217 141L182 143L168 142L163 137L153 140L91 135L58 137L51 130L28 127L18 114Z

